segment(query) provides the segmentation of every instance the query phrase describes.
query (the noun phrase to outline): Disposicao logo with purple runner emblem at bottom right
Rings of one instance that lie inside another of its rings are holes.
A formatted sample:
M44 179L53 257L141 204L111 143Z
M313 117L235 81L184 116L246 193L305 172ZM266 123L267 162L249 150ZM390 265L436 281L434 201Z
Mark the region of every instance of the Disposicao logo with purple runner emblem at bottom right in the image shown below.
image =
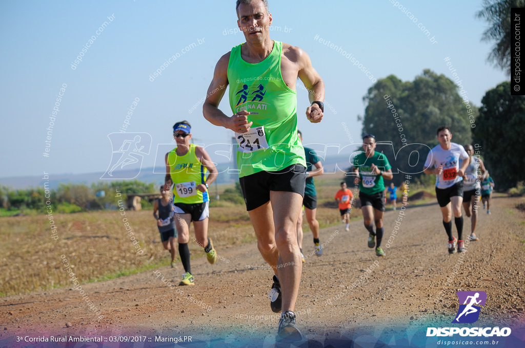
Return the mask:
M479 319L481 307L485 306L487 293L485 291L458 291L459 309L452 323L474 323ZM476 306L476 305L479 306ZM427 336L452 336L459 333L460 336L508 336L510 328L427 328Z

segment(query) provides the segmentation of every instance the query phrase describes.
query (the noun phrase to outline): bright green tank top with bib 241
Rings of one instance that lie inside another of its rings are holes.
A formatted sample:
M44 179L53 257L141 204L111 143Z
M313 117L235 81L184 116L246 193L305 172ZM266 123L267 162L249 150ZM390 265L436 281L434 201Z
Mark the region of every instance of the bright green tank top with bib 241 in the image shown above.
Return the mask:
M247 134L235 133L239 177L294 164L306 167L297 136L297 93L281 75L282 42L274 41L270 55L256 64L241 58L241 46L230 53L229 102L234 114L248 111L253 125Z

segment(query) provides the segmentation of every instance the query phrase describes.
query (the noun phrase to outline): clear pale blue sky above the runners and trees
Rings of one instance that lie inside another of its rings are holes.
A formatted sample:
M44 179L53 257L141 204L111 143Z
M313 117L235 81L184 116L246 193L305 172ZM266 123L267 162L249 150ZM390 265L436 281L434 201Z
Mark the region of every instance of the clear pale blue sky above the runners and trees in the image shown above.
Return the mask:
M316 35L352 53L376 79L395 74L411 81L426 68L451 78L444 62L450 57L478 106L487 90L508 80L486 62L490 45L480 42L486 24L475 18L480 0L400 3L437 43L389 0L270 0L273 25L281 27L270 37L310 55L325 82L325 101L337 111L325 110L320 124L310 124L304 116L307 92L299 90L305 143L348 145L341 122L358 142L357 116L364 113L362 98L372 85L348 59L315 41ZM153 166L156 144L169 143L171 127L181 119L193 124L197 143L228 143L233 133L208 123L202 104L191 114L188 109L206 94L218 58L244 42L242 34L224 35L237 27L236 19L235 0L2 2L0 177L105 171L111 159L107 135L119 132L135 98L140 101L127 131L152 136L153 153L144 167ZM71 62L104 21L109 24L72 70ZM198 39L201 45L181 53ZM151 82L149 75L177 52L180 57ZM46 128L62 84L67 88L45 158ZM220 108L230 113L227 97Z

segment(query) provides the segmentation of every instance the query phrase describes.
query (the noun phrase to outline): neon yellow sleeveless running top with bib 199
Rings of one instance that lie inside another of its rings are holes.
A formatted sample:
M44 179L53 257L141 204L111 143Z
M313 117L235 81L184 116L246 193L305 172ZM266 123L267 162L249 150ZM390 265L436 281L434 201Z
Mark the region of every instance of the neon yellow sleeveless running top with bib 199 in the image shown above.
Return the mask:
M167 155L170 176L173 181L173 203L203 203L209 201L208 192L197 190L197 185L206 181L207 169L195 155L195 144L184 156L177 156L174 148Z

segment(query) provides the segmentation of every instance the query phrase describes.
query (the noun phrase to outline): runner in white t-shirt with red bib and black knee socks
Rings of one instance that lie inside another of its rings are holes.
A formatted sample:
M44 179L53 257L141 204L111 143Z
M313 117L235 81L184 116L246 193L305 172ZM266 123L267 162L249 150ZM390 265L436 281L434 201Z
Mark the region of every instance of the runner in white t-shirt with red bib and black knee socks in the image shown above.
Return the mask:
M448 127L437 128L439 142L428 153L425 161L425 174L436 175L436 198L443 214L443 226L448 236L448 253L465 251L463 245L463 216L461 203L463 203L463 177L465 169L470 163L470 157L463 146L451 143L452 134ZM459 160L462 159L461 168ZM450 204L452 203L452 204ZM452 213L458 231L458 238L452 236Z

